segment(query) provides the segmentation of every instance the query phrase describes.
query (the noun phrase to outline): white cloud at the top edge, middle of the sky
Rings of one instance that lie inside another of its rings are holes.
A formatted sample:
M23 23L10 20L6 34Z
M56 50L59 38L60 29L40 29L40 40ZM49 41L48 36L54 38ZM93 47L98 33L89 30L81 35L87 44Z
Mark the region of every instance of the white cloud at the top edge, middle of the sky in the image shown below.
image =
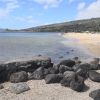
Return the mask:
M33 0L44 6L45 9L49 7L57 7L63 0Z

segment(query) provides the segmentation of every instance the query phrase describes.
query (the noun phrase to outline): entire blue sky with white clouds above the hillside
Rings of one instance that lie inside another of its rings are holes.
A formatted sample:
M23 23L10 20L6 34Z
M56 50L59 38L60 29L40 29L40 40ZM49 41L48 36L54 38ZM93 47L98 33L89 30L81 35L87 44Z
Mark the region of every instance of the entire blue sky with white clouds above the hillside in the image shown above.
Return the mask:
M0 28L100 17L100 0L0 0Z

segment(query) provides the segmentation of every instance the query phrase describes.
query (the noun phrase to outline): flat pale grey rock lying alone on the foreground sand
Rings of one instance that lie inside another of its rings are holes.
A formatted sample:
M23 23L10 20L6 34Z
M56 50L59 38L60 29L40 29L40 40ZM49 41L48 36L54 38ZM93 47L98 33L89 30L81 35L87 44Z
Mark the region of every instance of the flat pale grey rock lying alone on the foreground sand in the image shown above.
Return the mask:
M20 93L30 90L30 87L26 83L15 83L9 87L9 90L12 93L20 94Z

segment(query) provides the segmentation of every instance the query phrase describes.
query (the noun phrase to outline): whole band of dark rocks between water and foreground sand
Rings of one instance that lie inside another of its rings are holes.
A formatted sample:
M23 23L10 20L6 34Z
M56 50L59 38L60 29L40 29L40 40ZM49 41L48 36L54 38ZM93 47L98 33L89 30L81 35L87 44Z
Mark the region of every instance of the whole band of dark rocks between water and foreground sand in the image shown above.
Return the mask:
M31 90L26 84L29 80L45 80L46 84L60 83L76 92L87 91L85 81L100 82L99 58L94 58L90 63L82 63L78 57L62 60L57 65L51 58L38 56L30 60L19 60L0 64L0 89L5 89L3 83L14 83L9 91L20 94ZM99 100L100 90L89 94L94 100ZM0 99L2 100L2 99ZM74 100L74 99L73 99Z

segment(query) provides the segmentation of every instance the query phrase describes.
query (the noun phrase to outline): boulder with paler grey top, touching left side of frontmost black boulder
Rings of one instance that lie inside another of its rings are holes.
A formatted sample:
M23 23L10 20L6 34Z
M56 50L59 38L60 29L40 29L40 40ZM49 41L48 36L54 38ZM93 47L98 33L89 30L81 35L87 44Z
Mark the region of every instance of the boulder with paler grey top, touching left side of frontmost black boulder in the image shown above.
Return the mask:
M69 87L70 82L73 80L73 78L75 78L75 72L66 71L66 72L64 72L64 77L63 77L63 79L61 80L60 83L61 83L62 86Z

